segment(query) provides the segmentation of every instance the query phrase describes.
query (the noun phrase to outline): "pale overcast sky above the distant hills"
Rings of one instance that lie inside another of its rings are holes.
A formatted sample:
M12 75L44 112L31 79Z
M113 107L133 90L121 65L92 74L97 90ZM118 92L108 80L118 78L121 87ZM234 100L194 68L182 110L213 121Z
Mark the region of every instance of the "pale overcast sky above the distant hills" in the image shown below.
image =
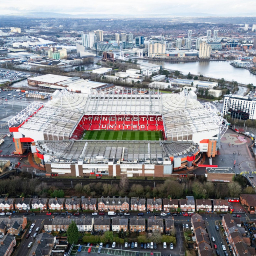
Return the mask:
M256 0L0 0L0 14L20 12L161 14L256 13Z

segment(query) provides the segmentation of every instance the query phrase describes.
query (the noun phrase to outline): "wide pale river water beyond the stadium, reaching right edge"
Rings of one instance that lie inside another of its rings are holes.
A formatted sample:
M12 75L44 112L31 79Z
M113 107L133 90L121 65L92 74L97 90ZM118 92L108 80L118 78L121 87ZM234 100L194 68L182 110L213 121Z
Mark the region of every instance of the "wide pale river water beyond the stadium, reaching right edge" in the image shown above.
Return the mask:
M147 61L138 59L138 64L154 63L162 65L163 68L178 70L184 75L189 72L194 75L204 75L212 78L224 78L227 81L237 81L241 84L256 85L256 75L250 73L247 69L235 68L230 65L229 61L220 62L164 62L164 61Z

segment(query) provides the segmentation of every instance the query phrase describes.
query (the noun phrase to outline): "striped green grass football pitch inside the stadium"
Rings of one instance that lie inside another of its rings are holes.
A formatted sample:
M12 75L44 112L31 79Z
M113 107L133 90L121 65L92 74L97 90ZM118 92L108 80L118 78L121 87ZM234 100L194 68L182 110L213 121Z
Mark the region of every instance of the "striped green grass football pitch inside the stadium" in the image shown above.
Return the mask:
M85 131L83 140L106 141L159 141L163 139L159 131Z

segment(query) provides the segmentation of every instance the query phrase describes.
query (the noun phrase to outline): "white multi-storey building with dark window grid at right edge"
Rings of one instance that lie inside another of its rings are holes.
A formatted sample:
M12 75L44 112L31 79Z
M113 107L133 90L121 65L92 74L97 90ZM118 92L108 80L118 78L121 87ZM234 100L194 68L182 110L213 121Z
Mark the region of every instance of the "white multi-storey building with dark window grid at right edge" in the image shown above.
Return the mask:
M225 95L223 114L230 115L232 119L256 119L256 99L238 95Z

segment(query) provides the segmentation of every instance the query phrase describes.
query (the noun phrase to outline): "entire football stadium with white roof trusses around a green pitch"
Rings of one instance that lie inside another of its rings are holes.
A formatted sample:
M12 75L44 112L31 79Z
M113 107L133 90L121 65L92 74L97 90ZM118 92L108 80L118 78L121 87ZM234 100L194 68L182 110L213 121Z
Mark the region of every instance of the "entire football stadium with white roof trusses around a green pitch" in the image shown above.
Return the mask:
M192 91L121 87L56 91L9 120L15 154L28 149L47 172L66 176L168 177L193 168L202 152L215 156L227 128L221 112Z

